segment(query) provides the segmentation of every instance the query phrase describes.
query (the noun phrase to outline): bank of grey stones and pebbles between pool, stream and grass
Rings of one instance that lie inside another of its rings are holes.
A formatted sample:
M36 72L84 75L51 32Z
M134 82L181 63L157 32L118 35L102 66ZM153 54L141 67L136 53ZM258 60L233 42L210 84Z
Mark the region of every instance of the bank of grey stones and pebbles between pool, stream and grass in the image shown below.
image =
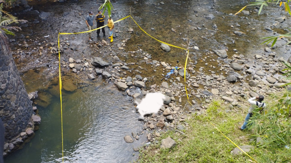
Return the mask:
M205 113L207 108L204 103L209 103L213 99L224 100L229 107L227 112L236 112L236 108L242 107L247 98L281 92L285 89L281 86L290 82L281 78L281 74L285 73L283 69L286 68L282 63L284 59L277 57L276 53L268 47L260 55L253 55L252 59L245 58L236 49L233 49L236 55L231 57L224 49L204 52L200 59L187 64L186 82L184 82L184 67L181 64L171 65L166 61L157 61L142 49L124 52L126 42L127 39L120 40L120 43L113 46L105 40L89 44L88 46L107 49L110 52L110 58L104 61L100 57L70 57L68 60L61 61L61 70L79 76L81 82L93 83L96 78L102 77L105 83L114 83L116 88L124 91L125 95L133 97L133 108L147 93L160 92L166 95L164 106L159 113L137 119L144 123L143 130L149 131L147 137L150 142L154 142L155 137L159 136L164 129L182 130L187 127L184 120L188 114ZM51 50L51 54L57 53L56 45L56 43L47 44L47 50ZM165 46L167 49L164 49ZM170 47L161 45L161 49L168 51ZM70 43L67 40L61 40L60 51L66 53L70 50L72 50ZM126 63L120 60L121 57L135 57L140 61ZM205 66L197 67L197 62L202 62ZM180 69L174 70L174 73L163 81L153 82L150 81L154 78L151 76L127 75L132 71L144 69L143 66L137 65L150 65L147 66L147 71L160 73L162 76L174 69L174 66L179 66ZM193 106L184 107L187 101L185 84L189 101ZM77 89L76 86L70 85L72 83L64 81L63 88L67 91ZM141 89L141 94L136 92L135 87ZM152 134L152 131L155 134ZM132 137L138 140L139 134L125 135L125 141L133 142Z

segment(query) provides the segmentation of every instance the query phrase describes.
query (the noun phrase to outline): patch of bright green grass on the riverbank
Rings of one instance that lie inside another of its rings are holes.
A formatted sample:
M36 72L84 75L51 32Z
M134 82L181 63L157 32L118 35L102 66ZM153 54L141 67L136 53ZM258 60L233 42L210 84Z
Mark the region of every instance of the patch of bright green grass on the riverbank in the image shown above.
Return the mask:
M185 135L168 131L163 133L158 140L171 137L177 143L171 149L160 149L160 143L149 146L146 150L140 151L138 162L250 162L248 156L244 154L233 155L231 151L236 147L227 140L224 135L236 143L238 146L248 145L248 132L240 131L238 123L244 121L246 111L240 110L239 113L225 113L225 108L221 101L212 102L206 109L206 114L200 116L191 115L186 122L189 124ZM226 120L226 122L223 122ZM257 148L248 154L256 158L261 155Z

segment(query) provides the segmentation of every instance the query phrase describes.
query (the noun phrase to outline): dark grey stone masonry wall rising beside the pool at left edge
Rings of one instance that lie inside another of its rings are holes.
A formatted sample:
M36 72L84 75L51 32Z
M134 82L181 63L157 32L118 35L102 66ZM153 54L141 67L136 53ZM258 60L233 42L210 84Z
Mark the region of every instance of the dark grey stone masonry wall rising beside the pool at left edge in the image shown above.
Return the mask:
M33 114L32 104L5 40L0 39L0 116L5 142L24 132Z

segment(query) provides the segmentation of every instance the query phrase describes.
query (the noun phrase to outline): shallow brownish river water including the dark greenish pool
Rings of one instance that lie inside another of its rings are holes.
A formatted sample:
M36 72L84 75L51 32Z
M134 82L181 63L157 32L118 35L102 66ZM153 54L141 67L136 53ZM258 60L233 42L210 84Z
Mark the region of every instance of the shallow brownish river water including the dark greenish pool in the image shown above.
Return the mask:
M160 2L155 0L112 2L115 9L113 20L116 21L127 16L131 11L132 17L141 28L155 38L179 47L183 47L183 44L189 44L189 47L198 46L200 49L198 51L190 49L190 57L192 62L198 61L197 67L204 67L206 73L206 70L211 68L205 66L205 62L200 61L205 58L215 66L217 59L217 56L207 54L210 50L228 49L229 58L234 54L243 54L246 58L252 59L254 54L261 55L265 48L265 45L259 45L261 41L259 38L272 35L272 32L266 32L264 28L268 24L274 23L274 19L266 19L264 11L261 17L258 17L256 13L251 13L249 16L241 14L239 17L229 15L245 6L244 1L166 0L164 5ZM16 40L11 42L11 50L25 50L18 46L23 41L28 42L32 47L37 47L38 44L45 47L45 44L49 42L56 42L58 32L86 31L84 20L86 12L92 10L97 13L100 4L91 0L77 3L38 2L33 4L32 8L14 13L19 19L26 19L30 23L22 25L22 31L17 33L16 37L10 38ZM253 11L254 8L251 10ZM50 12L48 19L40 20L38 18L41 11ZM83 15L80 16L79 12ZM282 16L276 15L276 12L270 13L272 17ZM213 14L214 19L205 18L209 14ZM274 31L284 32L283 29L288 27L289 22L287 19L285 23L278 24L274 27ZM230 27L232 25L234 28ZM129 27L134 29L133 34L126 32ZM171 28L176 32L172 32ZM255 30L251 30L251 28L255 28ZM136 62L145 67L145 70L140 70L143 77L153 77L153 80L161 79L163 70L156 68L156 72L148 71L151 65L143 64L143 57L129 57L127 51L136 51L141 48L152 55L154 60L166 61L173 65L177 64L177 60L182 64L185 61L184 50L172 47L170 52L163 52L159 48L159 43L142 32L130 18L116 23L115 30L120 31L118 32L119 37L115 39L116 42L118 40L120 43L121 40L130 38L126 42L125 52L118 52L120 59L126 63ZM238 37L233 34L235 30L244 31L247 35ZM49 37L43 37L47 35ZM96 36L96 33L93 32L92 35ZM61 35L61 39L65 38L68 38L68 42L76 50L65 51L61 60L67 61L69 57L91 58L102 54L102 57L106 58L110 54L105 48L96 50L87 47L86 34ZM188 41L184 41L182 38L187 38ZM29 41L29 39L33 39L33 41ZM283 46L284 44L284 41L278 41L277 48L273 51L277 52L278 56L287 59L290 51ZM234 48L238 50L238 53L233 51ZM22 55L19 59L15 59L15 62L27 91L39 90L40 95L44 95L47 101L38 101L39 115L42 117L40 129L22 149L6 157L5 162L62 162L58 85L57 80L51 79L49 75L58 74L56 64L58 58L46 51L43 51L42 55L38 51L31 51L31 54ZM99 51L102 54L99 54ZM52 60L47 61L47 59ZM212 59L214 62L211 62ZM136 65L136 68L139 65ZM134 73L136 72L128 73L128 75L134 76L136 75ZM112 87L112 84L104 85L104 80L101 78L96 79L93 83L81 82L81 77L69 73L63 73L63 78L72 78L78 88L74 92L62 92L65 162L130 162L136 160L138 153L134 152L132 148L141 146L146 137L145 133L142 133L143 123L137 121L139 114L135 112L132 98L124 96L123 92ZM142 135L138 141L126 143L123 137L131 135L131 132Z

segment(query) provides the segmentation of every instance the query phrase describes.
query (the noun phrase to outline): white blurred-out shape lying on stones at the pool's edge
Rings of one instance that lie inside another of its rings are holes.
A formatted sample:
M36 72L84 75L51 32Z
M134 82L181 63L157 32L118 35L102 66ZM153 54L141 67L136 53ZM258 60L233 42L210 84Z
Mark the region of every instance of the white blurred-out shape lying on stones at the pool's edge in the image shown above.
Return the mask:
M166 97L162 93L148 93L136 108L143 117L147 114L157 113L164 105L164 99Z

